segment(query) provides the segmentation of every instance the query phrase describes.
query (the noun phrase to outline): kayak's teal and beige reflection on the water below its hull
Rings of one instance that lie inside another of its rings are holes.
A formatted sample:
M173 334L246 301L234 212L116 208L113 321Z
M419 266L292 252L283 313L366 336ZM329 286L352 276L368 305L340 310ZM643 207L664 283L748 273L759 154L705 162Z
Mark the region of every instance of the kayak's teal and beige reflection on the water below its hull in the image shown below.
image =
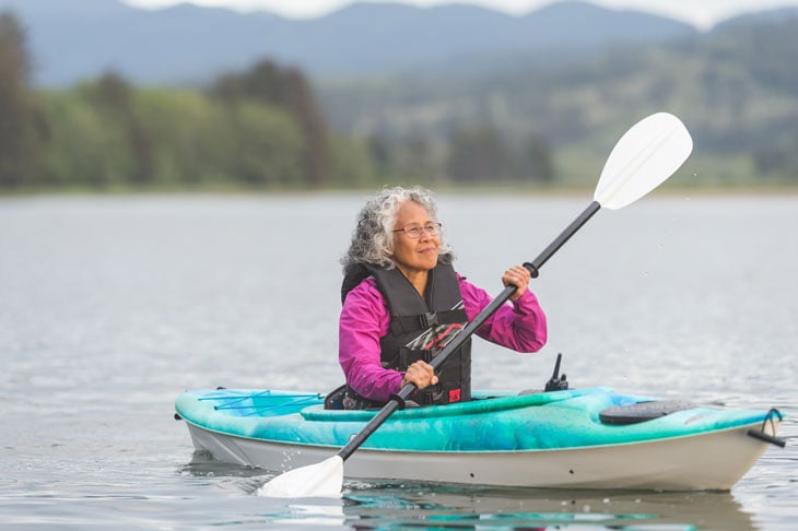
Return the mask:
M344 497L354 529L751 529L728 493L473 489L395 485Z

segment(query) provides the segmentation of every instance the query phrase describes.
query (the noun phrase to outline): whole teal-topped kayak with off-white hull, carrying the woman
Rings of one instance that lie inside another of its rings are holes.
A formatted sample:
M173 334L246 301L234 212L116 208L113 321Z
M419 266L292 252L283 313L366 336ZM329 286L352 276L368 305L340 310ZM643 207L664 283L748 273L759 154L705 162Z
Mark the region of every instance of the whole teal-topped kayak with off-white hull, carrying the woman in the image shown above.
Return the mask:
M283 472L335 455L375 411L325 394L218 389L180 394L195 447ZM395 412L347 462L364 480L579 488L729 489L776 437L776 410L704 408L606 387L474 392Z

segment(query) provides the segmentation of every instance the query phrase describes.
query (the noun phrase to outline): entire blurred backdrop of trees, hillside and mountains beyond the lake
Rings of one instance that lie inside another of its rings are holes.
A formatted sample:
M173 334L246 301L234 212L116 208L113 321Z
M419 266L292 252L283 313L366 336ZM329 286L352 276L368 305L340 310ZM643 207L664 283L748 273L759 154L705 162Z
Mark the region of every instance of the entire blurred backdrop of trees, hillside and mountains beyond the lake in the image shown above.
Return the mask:
M0 0L0 191L591 187L658 110L667 186L798 184L796 7L208 3Z

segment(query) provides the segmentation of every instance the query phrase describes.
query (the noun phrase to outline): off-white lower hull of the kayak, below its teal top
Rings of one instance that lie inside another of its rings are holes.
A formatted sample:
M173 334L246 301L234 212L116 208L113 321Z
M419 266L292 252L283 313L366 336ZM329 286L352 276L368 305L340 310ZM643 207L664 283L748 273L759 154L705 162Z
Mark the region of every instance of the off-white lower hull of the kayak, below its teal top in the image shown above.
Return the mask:
M764 426L775 436L777 423ZM188 424L193 445L222 461L283 472L317 463L338 448L291 445ZM345 463L350 479L541 488L727 491L767 445L747 436L761 423L683 437L516 451L392 451L361 448Z

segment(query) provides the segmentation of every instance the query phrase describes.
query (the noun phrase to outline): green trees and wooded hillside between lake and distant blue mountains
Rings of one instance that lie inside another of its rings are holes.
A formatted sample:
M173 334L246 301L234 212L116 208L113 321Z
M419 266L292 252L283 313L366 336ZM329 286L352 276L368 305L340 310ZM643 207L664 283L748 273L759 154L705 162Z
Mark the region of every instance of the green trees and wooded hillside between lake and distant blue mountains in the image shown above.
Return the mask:
M0 15L0 190L580 186L647 114L695 151L674 186L798 185L798 21L492 76L320 80L263 58L202 87L108 71L32 86L28 35Z

